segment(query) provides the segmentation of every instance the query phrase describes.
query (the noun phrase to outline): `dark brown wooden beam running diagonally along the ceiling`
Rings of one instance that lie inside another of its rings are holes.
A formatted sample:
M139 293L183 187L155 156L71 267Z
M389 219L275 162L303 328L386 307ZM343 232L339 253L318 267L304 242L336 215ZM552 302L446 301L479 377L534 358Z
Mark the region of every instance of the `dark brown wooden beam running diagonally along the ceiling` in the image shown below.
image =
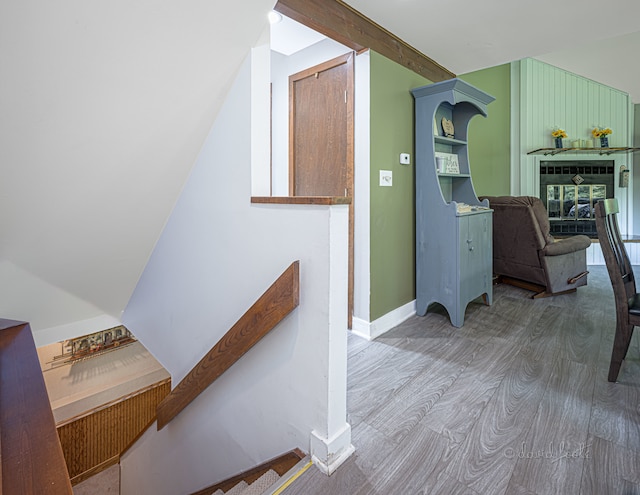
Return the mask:
M274 10L359 52L370 48L432 82L456 75L339 0L278 0Z

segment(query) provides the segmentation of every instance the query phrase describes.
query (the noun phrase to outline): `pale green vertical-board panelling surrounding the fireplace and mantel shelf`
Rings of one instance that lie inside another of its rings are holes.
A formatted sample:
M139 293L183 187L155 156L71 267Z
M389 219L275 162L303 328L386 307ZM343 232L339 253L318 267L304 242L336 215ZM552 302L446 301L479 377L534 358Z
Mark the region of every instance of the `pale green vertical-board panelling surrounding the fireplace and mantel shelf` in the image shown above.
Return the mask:
M592 154L560 154L554 157L527 155L537 148L551 148L551 131L560 127L567 131L567 142L591 138L594 126L610 127L610 147L631 146L633 143L633 105L629 95L617 89L572 74L534 59L520 61L520 143L519 159L514 160L512 175L519 177L515 194L539 196L540 160L600 160L615 161L615 196L620 204L620 230L631 232L633 224L633 177L628 188L618 187L618 171L631 166L630 154L601 156ZM568 147L568 146L567 146Z

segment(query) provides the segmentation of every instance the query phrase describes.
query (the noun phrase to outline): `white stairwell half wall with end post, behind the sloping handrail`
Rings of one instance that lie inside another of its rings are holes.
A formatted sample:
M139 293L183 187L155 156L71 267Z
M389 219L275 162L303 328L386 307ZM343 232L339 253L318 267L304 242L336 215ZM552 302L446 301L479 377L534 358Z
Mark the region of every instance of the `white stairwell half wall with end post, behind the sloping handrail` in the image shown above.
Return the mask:
M298 447L327 471L346 423L346 206L252 205L250 63L233 85L123 322L174 386L294 260L300 306L121 462L122 493L189 493ZM323 464L324 463L324 464Z

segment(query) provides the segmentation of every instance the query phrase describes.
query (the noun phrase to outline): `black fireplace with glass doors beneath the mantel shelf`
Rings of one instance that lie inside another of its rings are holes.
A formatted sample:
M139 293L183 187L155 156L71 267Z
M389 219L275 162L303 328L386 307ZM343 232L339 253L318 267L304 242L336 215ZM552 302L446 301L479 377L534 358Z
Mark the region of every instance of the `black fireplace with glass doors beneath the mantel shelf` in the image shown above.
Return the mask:
M613 160L540 162L540 199L553 236L598 237L594 207L613 198L613 171Z

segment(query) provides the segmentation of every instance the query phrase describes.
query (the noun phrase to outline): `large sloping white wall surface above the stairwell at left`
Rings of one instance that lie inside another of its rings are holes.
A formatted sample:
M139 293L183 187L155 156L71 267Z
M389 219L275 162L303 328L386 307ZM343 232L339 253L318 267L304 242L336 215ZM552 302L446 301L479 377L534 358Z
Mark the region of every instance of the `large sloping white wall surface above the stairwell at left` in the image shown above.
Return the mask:
M0 2L0 315L118 321L275 0Z

